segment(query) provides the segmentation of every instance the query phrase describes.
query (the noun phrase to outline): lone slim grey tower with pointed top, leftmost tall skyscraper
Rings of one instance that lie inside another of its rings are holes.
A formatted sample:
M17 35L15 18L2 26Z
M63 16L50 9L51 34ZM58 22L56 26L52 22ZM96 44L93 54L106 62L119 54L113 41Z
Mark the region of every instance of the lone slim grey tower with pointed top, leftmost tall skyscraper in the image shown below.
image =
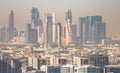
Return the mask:
M9 15L9 27L8 27L8 32L9 32L9 40L13 39L14 37L14 12L11 11Z

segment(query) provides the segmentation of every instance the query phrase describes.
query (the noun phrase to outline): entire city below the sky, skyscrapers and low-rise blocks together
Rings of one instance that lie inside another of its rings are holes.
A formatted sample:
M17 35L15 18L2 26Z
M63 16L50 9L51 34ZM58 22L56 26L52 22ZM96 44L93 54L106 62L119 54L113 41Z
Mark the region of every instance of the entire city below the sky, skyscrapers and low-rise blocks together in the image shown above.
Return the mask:
M55 12L41 19L33 7L23 31L15 28L14 13L0 27L0 73L120 73L120 37L106 36L102 16L79 17L76 24L67 9L62 23Z

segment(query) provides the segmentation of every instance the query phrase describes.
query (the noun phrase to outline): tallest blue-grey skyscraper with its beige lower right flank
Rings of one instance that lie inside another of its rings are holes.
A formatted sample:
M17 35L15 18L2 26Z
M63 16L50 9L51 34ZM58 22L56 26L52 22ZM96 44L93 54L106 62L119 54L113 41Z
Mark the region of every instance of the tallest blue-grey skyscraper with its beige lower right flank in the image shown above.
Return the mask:
M44 32L43 23L40 19L40 14L37 8L33 7L31 10L31 27L37 30L38 42L43 42L42 35Z

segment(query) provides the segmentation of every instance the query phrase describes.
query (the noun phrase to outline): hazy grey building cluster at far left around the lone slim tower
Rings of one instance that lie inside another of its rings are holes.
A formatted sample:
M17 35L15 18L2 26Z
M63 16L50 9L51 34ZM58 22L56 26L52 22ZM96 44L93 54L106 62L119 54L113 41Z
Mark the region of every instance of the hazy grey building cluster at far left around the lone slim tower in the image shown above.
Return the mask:
M12 41L17 36L17 30L14 27L14 12L11 10L9 14L9 25L8 27L2 27L0 30L0 41L8 42Z

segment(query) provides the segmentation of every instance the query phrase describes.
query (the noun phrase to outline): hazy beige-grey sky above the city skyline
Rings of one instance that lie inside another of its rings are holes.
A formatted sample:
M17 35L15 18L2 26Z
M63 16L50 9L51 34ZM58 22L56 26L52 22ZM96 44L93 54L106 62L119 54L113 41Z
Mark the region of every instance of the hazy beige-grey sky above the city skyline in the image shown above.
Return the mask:
M107 24L107 34L120 35L120 0L0 0L0 26L8 25L10 10L15 13L15 26L25 28L30 23L30 10L39 9L40 18L46 12L56 12L57 21L65 21L66 9L71 9L73 22L78 17L101 15ZM64 23L63 23L64 24Z

